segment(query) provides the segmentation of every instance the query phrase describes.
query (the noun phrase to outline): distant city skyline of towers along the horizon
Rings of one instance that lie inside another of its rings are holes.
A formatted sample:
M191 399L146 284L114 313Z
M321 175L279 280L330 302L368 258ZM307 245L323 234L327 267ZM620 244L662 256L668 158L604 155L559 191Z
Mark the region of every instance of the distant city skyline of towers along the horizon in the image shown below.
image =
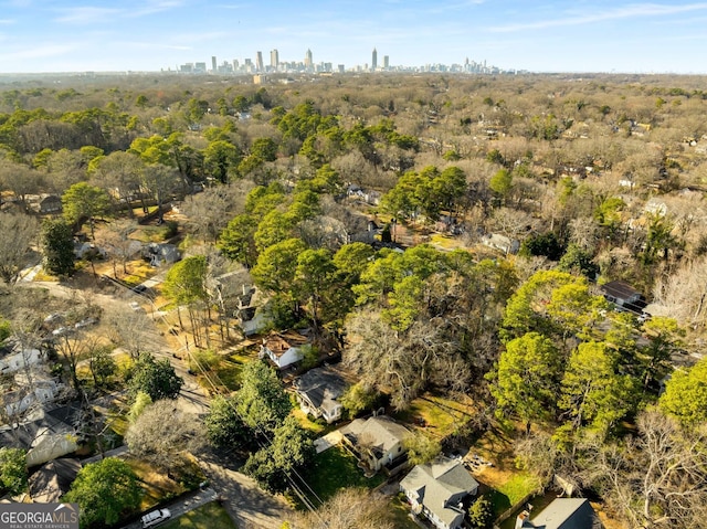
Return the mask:
M499 67L488 65L486 61L469 61L468 57L464 60L464 64L442 64L433 63L425 64L423 66L393 66L390 64L390 56L383 55L382 65L378 62L378 49L373 47L371 52L371 62L369 64L349 66L348 68L344 64L334 64L330 62L314 62L314 54L310 49L305 52L304 61L283 61L279 57L277 49L273 49L270 52L270 64L265 65L263 62L263 52L257 51L255 53L255 63L251 59L243 59L242 61L233 59L231 61L223 61L218 64L217 56L211 56L211 70L207 70L205 62L184 63L177 66L176 72L179 74L218 74L218 75L256 75L262 82L264 78L262 74L282 73L282 74L297 74L297 73L319 73L319 74L344 74L351 73L366 73L366 72L400 72L400 73L460 73L460 74L516 74L521 73L515 70L502 70ZM167 72L172 72L171 68Z

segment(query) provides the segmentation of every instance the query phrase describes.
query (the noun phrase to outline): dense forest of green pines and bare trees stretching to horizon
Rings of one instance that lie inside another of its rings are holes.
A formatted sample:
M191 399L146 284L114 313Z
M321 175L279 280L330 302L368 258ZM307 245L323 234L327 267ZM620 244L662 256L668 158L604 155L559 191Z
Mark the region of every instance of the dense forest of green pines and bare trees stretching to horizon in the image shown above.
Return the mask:
M312 329L315 357L336 352L357 374L350 410L381 394L398 411L423 393L466 395L473 434L513 432L518 467L544 483L562 475L625 527L703 527L700 86L439 74L0 84L2 294L20 288L32 251L73 275L80 233L117 276L136 204L152 208L179 234L186 257L163 294L188 308L197 345L212 347L214 326L231 338L239 289L254 285L274 329ZM61 213L43 210L50 197ZM608 300L615 282L644 303ZM10 328L24 325L4 306ZM287 411L267 427L285 436ZM263 480L279 490L276 477Z

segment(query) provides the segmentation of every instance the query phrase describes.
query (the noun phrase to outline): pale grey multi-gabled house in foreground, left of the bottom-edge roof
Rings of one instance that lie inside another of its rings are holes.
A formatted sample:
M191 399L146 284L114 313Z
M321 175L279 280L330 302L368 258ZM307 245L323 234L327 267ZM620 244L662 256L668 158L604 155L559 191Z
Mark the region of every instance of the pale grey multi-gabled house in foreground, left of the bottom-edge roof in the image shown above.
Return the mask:
M441 456L415 466L400 482L400 490L412 504L413 512L422 512L440 529L456 529L464 522L462 500L476 495L478 483L460 462Z

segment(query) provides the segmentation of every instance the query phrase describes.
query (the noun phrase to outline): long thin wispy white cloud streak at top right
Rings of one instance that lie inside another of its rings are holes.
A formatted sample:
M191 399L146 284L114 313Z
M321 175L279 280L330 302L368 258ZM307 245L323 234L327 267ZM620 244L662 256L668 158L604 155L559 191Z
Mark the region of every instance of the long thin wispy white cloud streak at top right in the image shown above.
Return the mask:
M658 3L634 3L623 8L611 9L603 12L583 13L563 19L539 20L518 24L506 24L489 28L494 33L510 33L514 31L541 30L563 25L582 25L608 20L632 19L637 17L666 17L671 14L686 13L690 11L707 10L707 3L688 3L685 6L666 6Z

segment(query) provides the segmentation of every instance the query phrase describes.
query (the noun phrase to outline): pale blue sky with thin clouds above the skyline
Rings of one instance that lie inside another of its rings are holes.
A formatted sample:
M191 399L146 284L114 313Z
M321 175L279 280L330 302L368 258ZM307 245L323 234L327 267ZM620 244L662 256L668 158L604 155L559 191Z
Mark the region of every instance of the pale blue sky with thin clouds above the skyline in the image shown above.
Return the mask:
M535 72L707 73L707 2L0 0L0 73L255 57ZM210 66L209 66L210 67Z

